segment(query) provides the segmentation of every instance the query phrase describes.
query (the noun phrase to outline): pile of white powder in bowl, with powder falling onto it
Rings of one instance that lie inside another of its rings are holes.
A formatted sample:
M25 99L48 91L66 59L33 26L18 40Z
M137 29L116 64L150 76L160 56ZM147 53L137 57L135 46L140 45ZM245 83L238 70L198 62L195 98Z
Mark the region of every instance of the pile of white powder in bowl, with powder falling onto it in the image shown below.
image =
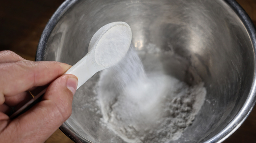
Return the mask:
M154 49L138 52L147 55L140 59L131 48L117 66L100 73L96 87L102 123L128 143L178 139L206 95L203 83L188 86L166 74L158 55L171 53Z

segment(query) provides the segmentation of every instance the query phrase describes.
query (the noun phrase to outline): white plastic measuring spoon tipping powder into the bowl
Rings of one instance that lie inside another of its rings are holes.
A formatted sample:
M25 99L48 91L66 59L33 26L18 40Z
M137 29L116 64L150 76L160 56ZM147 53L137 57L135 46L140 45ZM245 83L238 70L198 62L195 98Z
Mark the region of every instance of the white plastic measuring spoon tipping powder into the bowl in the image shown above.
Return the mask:
M132 40L132 31L124 22L113 22L101 27L92 37L88 53L64 74L74 74L78 78L77 89L96 72L117 64L128 51ZM46 88L47 89L47 88ZM41 101L46 89L38 93L28 103L14 112L10 119L26 112Z

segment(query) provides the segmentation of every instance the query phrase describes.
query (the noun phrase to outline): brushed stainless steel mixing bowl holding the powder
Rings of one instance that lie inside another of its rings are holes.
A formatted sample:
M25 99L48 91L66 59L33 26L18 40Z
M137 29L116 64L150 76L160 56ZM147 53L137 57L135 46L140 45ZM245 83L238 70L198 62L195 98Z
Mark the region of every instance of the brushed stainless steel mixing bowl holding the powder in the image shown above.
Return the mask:
M188 84L204 82L201 110L171 142L222 142L243 123L255 104L256 39L251 20L234 0L67 0L46 25L36 60L73 65L88 52L96 30L115 21L131 26L136 50L152 43L173 50L188 64L184 75L179 68L171 73ZM90 86L77 90L72 116L60 129L75 142L122 142L95 120L100 115L93 93L86 92Z

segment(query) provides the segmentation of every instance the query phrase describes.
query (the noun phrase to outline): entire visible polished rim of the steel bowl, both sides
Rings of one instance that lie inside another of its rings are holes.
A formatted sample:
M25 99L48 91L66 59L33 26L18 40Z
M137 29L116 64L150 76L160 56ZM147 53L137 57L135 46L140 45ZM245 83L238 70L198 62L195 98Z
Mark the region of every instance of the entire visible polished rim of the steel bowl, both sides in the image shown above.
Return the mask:
M42 61L45 55L45 49L47 46L47 42L54 27L57 22L60 20L62 15L79 0L66 0L64 1L54 12L53 16L50 18L48 23L46 24L41 38L39 40L35 61ZM249 34L249 37L252 42L253 52L254 52L254 67L256 67L255 55L256 55L256 30L255 25L252 20L245 12L245 10L235 1L235 0L223 0L228 6L230 6L234 12L238 15L240 20L245 25L245 28ZM223 142L226 138L232 135L245 121L250 112L252 111L256 102L256 72L254 69L254 76L252 81L252 86L249 92L247 99L245 100L244 105L238 112L238 114L229 122L224 129L222 129L218 134L214 135L210 139L206 140L205 143L215 143L215 142ZM64 122L59 128L65 135L67 135L70 139L78 143L92 143L89 140L84 141L84 137L78 134L73 129L69 128Z

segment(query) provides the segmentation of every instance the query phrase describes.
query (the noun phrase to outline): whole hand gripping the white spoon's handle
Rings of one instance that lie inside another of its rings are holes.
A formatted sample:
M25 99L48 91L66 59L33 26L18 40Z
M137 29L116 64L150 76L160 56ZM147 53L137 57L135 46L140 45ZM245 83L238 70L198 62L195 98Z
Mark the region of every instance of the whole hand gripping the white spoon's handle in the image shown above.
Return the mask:
M0 142L43 143L71 116L78 80L63 75L71 66L49 61L28 61L11 51L0 52ZM42 101L11 120L11 107L26 103L27 91L48 85Z

